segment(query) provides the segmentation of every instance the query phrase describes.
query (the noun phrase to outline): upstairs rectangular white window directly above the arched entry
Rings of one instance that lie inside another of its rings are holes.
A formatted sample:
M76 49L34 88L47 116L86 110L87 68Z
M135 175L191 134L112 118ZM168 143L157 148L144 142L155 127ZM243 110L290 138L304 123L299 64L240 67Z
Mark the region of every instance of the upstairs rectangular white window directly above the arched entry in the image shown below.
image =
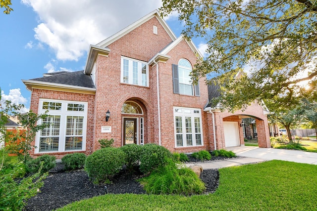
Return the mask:
M148 64L121 57L121 83L149 86Z

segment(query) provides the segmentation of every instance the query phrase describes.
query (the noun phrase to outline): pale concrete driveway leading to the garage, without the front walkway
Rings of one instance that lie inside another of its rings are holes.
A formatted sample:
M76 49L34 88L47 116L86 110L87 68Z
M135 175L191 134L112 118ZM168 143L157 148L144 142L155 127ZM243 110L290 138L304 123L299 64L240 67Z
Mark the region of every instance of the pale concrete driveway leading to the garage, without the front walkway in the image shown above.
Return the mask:
M317 153L300 150L286 150L273 148L259 148L252 146L227 147L227 151L233 151L239 156L257 158L263 160L291 161L303 164L317 165Z

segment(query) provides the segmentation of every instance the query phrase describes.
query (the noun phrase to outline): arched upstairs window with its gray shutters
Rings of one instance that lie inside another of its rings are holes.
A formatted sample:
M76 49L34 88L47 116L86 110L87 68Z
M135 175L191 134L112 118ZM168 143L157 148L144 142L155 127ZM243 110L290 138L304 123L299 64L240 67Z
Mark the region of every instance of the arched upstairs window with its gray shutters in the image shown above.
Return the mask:
M190 73L192 65L186 59L180 59L178 64L172 65L173 92L175 94L199 96L199 84L194 84Z

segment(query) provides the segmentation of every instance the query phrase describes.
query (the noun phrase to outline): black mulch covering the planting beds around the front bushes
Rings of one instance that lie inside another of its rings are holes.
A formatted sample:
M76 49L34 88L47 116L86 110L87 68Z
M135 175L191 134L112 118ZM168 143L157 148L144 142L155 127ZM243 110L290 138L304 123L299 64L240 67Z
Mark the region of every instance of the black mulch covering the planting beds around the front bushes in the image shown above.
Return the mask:
M212 160L222 160L223 157ZM191 158L190 162L197 160ZM212 162L212 161L208 161ZM112 180L112 184L94 185L88 178L84 170L67 172L63 170L63 165L58 163L50 171L49 176L44 180L41 192L27 201L25 211L51 211L64 207L75 201L111 194L145 194L141 185L136 181L141 175L129 174L126 170L121 172ZM206 185L204 194L213 193L219 182L219 172L217 169L206 169L201 173L200 178Z

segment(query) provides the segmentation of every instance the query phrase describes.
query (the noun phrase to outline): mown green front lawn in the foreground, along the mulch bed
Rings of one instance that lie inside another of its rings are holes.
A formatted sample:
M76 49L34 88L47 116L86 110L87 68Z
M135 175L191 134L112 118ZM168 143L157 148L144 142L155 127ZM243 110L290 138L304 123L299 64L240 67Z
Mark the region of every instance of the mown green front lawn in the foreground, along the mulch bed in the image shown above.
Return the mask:
M107 194L58 211L304 211L316 210L317 165L268 161L219 169L210 195Z

